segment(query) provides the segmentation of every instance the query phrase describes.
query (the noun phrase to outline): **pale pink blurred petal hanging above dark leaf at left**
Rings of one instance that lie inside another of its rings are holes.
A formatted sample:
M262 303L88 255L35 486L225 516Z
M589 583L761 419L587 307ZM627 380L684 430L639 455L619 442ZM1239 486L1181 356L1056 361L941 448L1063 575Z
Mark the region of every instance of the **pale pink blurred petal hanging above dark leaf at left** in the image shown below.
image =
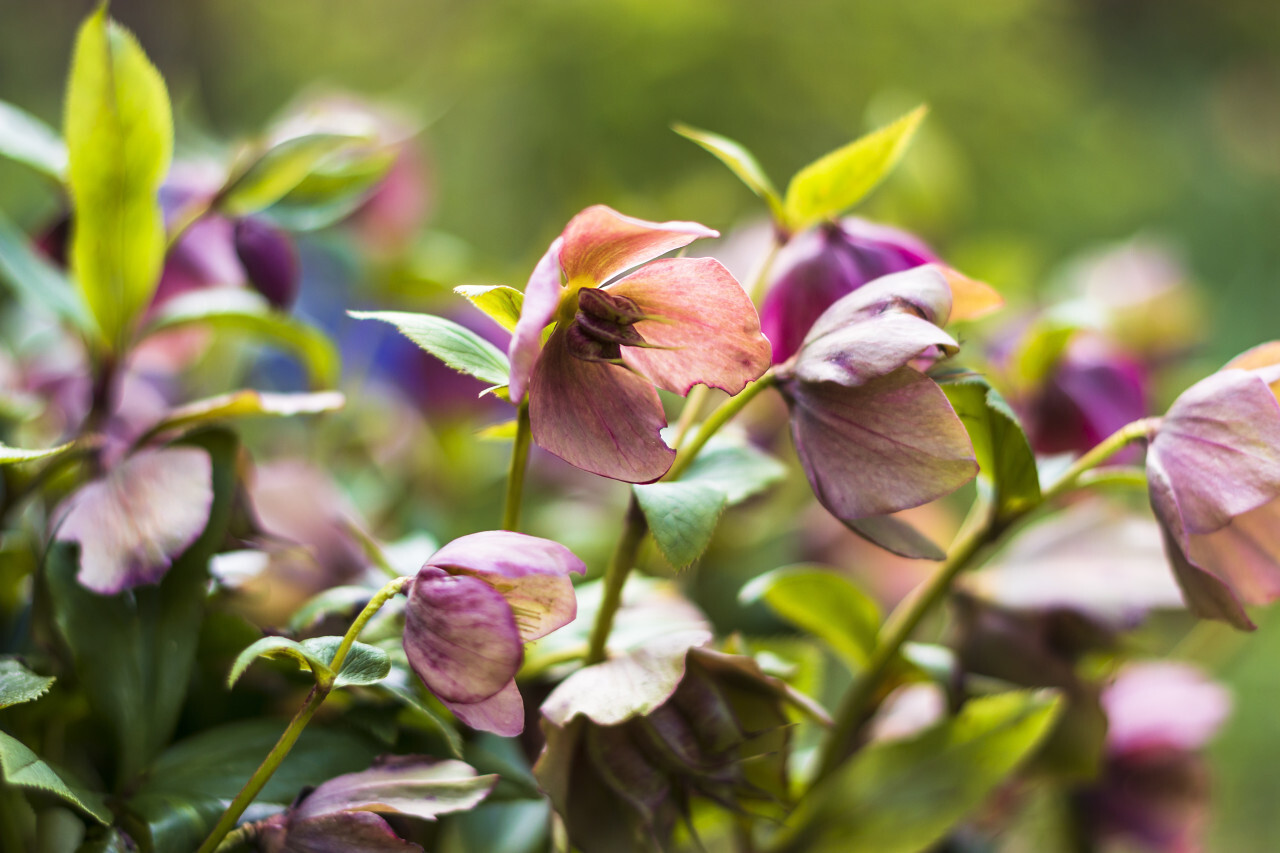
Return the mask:
M79 543L81 584L111 596L159 581L200 537L212 505L209 453L145 450L70 497L58 538Z

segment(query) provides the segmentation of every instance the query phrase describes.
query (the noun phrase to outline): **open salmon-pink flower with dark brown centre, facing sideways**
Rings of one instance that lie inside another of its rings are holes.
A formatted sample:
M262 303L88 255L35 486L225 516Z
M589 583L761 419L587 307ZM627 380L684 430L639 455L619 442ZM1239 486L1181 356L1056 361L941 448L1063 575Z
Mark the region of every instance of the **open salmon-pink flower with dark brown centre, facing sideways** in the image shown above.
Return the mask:
M529 279L511 339L511 400L529 392L539 446L586 471L649 483L675 460L657 388L736 394L768 369L755 306L719 261L654 260L714 236L603 205L570 220Z

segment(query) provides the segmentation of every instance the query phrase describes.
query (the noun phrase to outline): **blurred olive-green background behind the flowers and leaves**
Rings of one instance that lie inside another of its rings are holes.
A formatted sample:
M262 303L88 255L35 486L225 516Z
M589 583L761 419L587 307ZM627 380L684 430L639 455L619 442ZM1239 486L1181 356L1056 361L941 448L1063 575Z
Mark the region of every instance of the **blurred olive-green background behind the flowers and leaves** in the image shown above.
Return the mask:
M0 3L0 99L59 124L87 0ZM1206 295L1206 369L1280 337L1280 3L1274 0L118 0L169 82L179 143L260 131L348 90L426 126L430 228L522 286L605 202L728 229L756 200L669 131L751 147L774 181L918 102L932 114L861 213L1034 298L1074 252L1156 234ZM0 164L27 225L58 201ZM424 257L431 265L436 259ZM1211 849L1280 836L1280 619L1202 649L1236 690Z

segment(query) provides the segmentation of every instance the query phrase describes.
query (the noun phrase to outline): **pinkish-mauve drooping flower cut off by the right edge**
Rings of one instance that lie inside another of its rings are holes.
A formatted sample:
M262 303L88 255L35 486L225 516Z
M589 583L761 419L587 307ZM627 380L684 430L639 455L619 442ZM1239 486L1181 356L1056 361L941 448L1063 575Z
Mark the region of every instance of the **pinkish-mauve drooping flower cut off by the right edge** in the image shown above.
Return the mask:
M1151 506L1192 612L1252 630L1280 598L1280 343L1184 391L1147 451Z

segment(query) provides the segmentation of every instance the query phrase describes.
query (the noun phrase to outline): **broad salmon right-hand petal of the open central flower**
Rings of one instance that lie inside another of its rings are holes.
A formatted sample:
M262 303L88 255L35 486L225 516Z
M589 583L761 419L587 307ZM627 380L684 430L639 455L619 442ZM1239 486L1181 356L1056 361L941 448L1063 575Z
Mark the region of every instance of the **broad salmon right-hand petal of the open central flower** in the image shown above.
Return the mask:
M609 284L646 318L635 330L652 347L623 347L622 360L655 386L687 394L695 384L736 394L769 368L769 342L742 286L718 260L678 257L645 265Z

